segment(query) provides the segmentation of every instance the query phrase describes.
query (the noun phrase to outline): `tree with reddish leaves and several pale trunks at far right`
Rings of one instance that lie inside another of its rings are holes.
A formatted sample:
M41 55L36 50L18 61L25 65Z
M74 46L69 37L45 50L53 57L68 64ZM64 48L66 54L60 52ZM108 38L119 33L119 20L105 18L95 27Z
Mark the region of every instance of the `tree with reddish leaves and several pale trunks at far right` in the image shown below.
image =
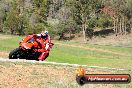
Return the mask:
M109 14L114 23L115 34L126 34L131 13L131 0L109 0L105 2L103 12Z

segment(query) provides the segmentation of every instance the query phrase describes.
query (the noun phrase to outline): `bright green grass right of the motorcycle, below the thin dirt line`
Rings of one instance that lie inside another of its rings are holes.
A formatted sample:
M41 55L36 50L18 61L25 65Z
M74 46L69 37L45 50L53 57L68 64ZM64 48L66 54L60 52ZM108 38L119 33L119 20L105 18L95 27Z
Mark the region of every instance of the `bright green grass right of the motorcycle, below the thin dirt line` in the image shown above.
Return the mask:
M59 45L54 46L47 61L123 68L132 65L132 59L123 56Z

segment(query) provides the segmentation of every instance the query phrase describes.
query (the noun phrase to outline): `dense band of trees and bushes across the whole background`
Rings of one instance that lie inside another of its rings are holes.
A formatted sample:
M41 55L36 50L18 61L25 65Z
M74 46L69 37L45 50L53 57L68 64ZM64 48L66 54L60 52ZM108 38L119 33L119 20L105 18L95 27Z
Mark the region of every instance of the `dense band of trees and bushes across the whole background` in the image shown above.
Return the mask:
M25 35L49 30L55 36L83 31L86 38L86 31L96 28L131 31L131 7L131 0L0 0L0 32Z

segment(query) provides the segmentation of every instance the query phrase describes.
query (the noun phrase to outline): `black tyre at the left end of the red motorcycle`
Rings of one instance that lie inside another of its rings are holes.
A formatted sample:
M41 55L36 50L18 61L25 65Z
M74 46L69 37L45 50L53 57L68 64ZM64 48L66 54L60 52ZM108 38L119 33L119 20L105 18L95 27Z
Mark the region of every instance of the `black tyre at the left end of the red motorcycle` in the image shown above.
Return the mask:
M16 48L9 54L9 59L18 59L20 58L20 48Z

